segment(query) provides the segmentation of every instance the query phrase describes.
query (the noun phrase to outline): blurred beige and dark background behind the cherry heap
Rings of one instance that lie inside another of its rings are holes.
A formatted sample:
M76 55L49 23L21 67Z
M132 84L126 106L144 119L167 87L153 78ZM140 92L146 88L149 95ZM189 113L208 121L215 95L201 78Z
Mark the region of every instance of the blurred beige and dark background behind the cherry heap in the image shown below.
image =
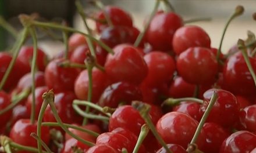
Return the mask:
M13 20L19 13L39 12L47 19L66 19L73 27L84 30L84 25L80 16L76 13L74 0L0 0L0 11L12 23L17 25ZM4 2L5 1L5 2ZM84 10L93 10L88 1L81 0ZM226 37L223 42L223 52L233 46L237 39L246 38L247 31L256 33L256 21L253 20L252 14L256 12L255 0L169 0L175 8L176 13L180 14L184 20L194 19L197 17L211 17L211 21L200 21L190 23L200 25L208 32L212 47L218 48L222 31L230 15L234 12L237 5L243 5L245 12L243 16L238 17L228 28ZM143 28L143 21L154 8L155 0L102 0L105 5L117 5L127 10L134 19L134 25L139 29ZM160 8L163 8L161 6ZM90 26L94 24L90 22ZM2 37L5 39L5 37ZM63 50L61 42L43 39L39 43L40 47L51 54Z

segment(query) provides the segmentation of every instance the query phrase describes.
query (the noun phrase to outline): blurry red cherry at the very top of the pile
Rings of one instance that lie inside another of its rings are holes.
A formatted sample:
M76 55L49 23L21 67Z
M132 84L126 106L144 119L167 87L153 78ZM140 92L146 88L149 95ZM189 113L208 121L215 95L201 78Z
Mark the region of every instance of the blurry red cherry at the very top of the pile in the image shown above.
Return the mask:
M122 25L125 27L132 27L133 20L128 12L125 10L118 8L116 6L106 6L104 8L105 12L108 14L110 20L112 21L113 25ZM105 15L102 11L97 13L96 19L105 20ZM100 23L96 22L96 29L98 32L101 32L109 25L107 23Z

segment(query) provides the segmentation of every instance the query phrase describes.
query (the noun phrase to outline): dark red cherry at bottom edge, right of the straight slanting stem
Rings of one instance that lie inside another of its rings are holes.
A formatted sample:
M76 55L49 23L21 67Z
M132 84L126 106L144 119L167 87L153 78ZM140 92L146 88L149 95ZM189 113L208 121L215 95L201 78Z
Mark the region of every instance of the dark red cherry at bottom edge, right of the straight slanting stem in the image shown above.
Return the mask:
M204 144L204 152L215 153L219 152L223 141L229 136L229 133L216 123L204 123L202 128L206 134Z

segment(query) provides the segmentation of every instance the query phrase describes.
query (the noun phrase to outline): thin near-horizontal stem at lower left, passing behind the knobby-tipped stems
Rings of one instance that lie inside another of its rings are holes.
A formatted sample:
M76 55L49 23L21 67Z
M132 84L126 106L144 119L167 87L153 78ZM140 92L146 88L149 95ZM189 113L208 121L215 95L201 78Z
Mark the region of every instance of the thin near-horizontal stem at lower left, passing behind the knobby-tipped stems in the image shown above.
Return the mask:
M81 132L88 133L88 134L90 134L91 136L94 136L94 137L99 136L99 133L96 133L92 130L81 128L80 126L70 125L70 124L67 124L67 123L63 123L63 125L65 125L67 128L76 129L76 130L80 130ZM42 126L60 126L60 125L56 122L43 122Z

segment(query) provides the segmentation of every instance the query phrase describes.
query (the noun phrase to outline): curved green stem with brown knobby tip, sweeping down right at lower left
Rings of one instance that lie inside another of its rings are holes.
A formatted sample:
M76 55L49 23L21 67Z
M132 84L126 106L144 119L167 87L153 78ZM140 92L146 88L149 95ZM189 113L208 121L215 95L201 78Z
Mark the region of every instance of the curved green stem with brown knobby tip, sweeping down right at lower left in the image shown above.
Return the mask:
M81 141L81 143L84 143L90 147L94 146L94 143L91 143L90 141L86 141L84 139L81 139L81 137L77 136L76 134L73 134L72 132L70 132L69 129L67 129L67 127L63 124L63 122L61 121L61 118L58 115L58 112L56 110L56 106L54 104L54 92L52 92L52 90L49 90L49 92L46 92L43 94L43 99L45 103L48 103L52 109L52 113L54 114L54 117L56 119L56 121L59 123L59 126L61 126L61 128L70 136L74 137L74 139Z

